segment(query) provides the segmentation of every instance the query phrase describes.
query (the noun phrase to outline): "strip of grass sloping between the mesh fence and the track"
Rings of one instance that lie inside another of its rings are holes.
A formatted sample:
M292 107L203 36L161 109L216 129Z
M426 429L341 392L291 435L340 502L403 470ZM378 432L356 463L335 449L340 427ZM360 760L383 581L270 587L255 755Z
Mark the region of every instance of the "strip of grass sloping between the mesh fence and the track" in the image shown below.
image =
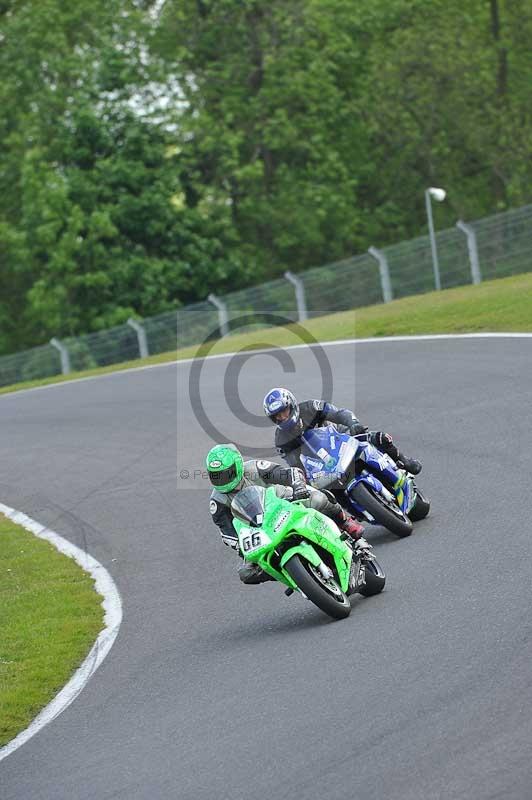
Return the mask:
M424 333L475 333L480 331L532 331L532 273L486 281L479 286L464 286L431 292L386 305L368 306L308 320L305 328L322 342L333 339L365 339L373 336L415 335ZM297 330L268 328L252 333L228 336L209 349L210 354L228 353L242 348L299 344ZM46 386L65 380L105 375L108 372L159 364L203 355L197 346L147 359L127 361L109 367L18 383L0 388L0 394Z

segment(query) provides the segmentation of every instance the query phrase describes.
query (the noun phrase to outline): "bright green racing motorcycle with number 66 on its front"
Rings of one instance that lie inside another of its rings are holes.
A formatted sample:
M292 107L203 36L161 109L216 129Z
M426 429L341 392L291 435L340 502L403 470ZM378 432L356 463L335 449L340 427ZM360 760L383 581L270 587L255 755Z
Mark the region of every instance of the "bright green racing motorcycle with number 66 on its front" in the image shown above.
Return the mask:
M349 616L349 595L384 588L386 577L371 552L357 552L328 517L277 496L275 487L248 486L231 503L233 525L246 561L300 592L334 619Z

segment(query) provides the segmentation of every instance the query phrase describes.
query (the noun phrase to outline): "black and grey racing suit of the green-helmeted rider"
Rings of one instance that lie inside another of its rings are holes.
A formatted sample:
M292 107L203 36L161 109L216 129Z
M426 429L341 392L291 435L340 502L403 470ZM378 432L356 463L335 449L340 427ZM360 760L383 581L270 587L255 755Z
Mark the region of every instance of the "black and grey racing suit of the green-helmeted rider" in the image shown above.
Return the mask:
M219 492L213 489L209 503L213 522L220 529L224 544L238 550L238 536L233 527L233 514L231 511L231 501L235 494L246 486L275 486L279 497L285 500L292 500L294 492L307 486L303 470L287 467L282 464L275 464L272 461L244 461L244 477L240 484L232 492ZM327 495L307 486L310 496L307 505L316 511L333 519L337 524L345 521L345 514L338 503L331 502Z

